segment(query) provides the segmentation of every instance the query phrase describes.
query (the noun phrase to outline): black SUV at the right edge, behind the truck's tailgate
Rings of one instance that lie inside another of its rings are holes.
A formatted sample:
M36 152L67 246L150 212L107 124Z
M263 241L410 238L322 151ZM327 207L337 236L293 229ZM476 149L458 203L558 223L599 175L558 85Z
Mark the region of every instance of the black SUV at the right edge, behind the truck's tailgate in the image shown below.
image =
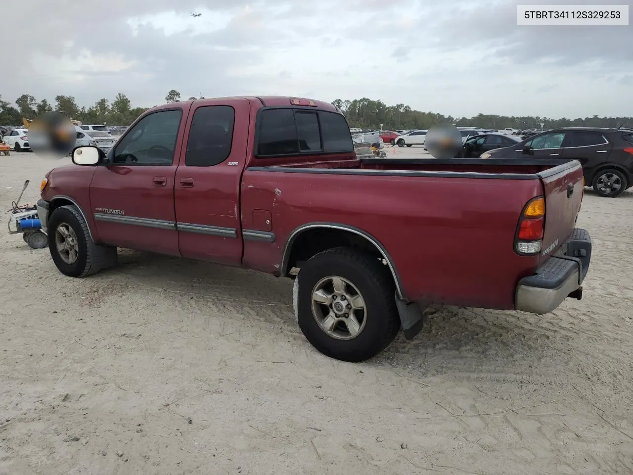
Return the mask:
M481 158L568 158L582 163L585 183L613 198L633 186L633 129L565 127L542 132Z

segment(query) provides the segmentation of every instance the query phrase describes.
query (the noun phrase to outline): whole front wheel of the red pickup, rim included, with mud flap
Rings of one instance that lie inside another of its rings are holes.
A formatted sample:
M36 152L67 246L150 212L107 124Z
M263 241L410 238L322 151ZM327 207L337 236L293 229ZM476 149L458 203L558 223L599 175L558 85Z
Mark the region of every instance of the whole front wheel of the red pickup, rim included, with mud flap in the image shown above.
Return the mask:
M116 248L92 241L88 224L75 206L60 206L49 219L48 248L62 274L87 277L116 264Z

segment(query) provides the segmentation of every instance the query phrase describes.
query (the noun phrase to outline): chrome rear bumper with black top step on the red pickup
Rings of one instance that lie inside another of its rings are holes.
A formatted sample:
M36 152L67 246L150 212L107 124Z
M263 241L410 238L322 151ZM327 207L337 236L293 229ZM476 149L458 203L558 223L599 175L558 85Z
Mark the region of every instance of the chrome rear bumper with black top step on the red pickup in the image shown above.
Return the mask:
M591 236L585 229L576 228L557 255L550 257L536 274L518 282L515 309L543 315L555 310L567 297L580 300L590 262Z

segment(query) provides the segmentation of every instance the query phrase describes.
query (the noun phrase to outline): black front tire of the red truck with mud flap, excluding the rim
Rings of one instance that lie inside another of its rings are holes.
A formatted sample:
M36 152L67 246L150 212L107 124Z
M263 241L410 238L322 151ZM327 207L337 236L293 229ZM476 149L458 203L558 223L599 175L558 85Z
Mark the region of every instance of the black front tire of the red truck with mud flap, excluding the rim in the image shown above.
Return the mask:
M64 262L58 251L55 234L61 224L72 228L77 238L77 259L73 263ZM47 224L49 232L48 248L53 262L62 274L69 277L87 277L101 269L116 265L116 248L94 243L88 231L88 224L75 206L60 206L54 210Z

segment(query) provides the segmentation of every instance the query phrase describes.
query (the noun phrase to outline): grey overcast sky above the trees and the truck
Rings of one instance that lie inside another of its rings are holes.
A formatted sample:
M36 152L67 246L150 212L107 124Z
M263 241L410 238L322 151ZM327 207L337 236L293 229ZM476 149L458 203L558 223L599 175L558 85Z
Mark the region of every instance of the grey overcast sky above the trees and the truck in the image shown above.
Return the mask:
M176 89L458 117L632 116L633 26L518 27L517 4L535 3L592 2L29 0L21 21L3 18L0 94L90 106L123 92L153 106Z

